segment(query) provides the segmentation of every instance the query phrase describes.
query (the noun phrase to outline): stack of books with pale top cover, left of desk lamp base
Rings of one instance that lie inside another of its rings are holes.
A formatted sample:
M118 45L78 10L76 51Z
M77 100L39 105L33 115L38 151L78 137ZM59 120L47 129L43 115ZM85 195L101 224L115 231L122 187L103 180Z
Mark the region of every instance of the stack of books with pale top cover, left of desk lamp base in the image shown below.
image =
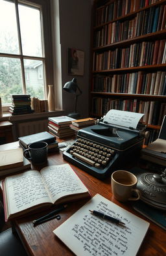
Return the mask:
M49 132L59 139L72 137L75 132L70 128L70 124L75 119L67 116L49 117Z

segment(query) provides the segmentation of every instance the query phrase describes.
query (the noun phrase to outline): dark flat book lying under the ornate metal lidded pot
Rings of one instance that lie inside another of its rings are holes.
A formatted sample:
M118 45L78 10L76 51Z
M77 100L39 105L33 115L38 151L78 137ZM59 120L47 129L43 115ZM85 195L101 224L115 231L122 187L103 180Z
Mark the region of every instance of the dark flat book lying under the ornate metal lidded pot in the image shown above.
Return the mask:
M166 212L157 208L151 207L143 201L137 201L133 205L134 210L153 221L162 229L166 230Z

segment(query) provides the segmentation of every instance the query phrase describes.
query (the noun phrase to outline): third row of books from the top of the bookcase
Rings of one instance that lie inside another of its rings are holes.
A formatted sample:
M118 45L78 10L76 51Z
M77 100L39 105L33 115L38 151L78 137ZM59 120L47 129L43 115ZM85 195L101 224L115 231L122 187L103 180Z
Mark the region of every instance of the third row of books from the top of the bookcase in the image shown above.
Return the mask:
M164 63L166 63L166 40L141 42L131 44L128 48L93 53L93 71Z

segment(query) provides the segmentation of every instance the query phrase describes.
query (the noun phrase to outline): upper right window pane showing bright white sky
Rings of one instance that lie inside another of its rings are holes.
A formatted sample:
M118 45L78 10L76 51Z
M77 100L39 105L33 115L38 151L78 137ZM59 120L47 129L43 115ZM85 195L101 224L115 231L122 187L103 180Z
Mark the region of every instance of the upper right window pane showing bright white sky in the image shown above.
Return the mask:
M23 55L42 57L40 10L19 5Z

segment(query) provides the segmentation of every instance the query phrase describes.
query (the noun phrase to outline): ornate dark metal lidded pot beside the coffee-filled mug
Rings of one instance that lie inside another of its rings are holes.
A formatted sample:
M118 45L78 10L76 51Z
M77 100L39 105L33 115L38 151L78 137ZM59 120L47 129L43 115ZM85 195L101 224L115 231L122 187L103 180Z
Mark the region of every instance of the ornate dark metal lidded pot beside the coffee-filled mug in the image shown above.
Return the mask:
M137 189L141 191L140 199L155 208L166 210L166 178L154 173L137 175Z

